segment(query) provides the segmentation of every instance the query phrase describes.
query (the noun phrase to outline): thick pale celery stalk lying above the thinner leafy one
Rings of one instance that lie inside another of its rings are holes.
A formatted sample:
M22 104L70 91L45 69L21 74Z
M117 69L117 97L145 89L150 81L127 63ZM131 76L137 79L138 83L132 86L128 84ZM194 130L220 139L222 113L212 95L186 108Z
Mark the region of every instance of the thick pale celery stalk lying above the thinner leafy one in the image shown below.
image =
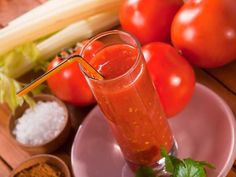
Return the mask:
M28 20L19 26L7 26L0 30L0 54L8 52L21 44L34 41L48 34L92 15L117 10L120 0L74 0L72 3L43 13L33 20Z

